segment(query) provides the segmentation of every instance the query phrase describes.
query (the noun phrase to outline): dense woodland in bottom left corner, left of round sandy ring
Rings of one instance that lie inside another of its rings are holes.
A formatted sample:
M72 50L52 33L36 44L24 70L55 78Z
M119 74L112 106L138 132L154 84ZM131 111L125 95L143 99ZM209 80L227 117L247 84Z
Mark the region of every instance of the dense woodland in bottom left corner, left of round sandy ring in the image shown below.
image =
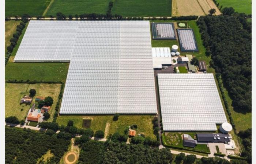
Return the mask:
M5 127L5 163L35 164L48 150L54 154L49 163L57 163L68 150L70 138L30 129Z

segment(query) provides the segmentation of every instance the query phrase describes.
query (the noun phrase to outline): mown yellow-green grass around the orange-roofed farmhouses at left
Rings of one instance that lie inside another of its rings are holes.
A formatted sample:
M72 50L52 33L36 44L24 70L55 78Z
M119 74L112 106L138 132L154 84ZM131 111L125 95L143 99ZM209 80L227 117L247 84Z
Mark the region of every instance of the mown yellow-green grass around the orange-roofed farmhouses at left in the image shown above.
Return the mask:
M60 93L60 84L5 83L5 117L16 116L22 120L27 116L29 105L20 105L19 101L24 95L29 95L30 89L37 91L35 96L51 96L53 98L53 105L49 112L51 117L48 120L52 121ZM34 103L34 99L32 103ZM21 109L23 110L21 111Z

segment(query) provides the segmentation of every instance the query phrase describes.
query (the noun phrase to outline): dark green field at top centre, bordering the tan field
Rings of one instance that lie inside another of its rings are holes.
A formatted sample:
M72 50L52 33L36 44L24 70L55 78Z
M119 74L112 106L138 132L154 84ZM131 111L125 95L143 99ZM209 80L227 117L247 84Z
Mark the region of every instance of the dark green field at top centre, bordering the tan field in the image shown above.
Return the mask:
M172 0L114 0L112 14L122 16L171 16Z

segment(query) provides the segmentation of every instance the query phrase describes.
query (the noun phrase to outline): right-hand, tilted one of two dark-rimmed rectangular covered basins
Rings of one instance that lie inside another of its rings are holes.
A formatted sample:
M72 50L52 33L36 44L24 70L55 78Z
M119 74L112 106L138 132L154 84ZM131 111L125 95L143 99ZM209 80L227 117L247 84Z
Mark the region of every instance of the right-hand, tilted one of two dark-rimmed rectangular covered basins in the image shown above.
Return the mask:
M177 29L182 52L198 51L193 29Z

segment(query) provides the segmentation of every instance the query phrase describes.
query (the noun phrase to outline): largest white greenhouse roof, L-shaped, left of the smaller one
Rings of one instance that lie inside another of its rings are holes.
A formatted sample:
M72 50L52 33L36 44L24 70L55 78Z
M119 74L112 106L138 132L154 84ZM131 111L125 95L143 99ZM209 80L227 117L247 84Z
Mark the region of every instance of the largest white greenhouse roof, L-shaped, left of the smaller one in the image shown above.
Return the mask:
M20 48L15 61L70 60L60 114L157 113L149 21L30 21Z

